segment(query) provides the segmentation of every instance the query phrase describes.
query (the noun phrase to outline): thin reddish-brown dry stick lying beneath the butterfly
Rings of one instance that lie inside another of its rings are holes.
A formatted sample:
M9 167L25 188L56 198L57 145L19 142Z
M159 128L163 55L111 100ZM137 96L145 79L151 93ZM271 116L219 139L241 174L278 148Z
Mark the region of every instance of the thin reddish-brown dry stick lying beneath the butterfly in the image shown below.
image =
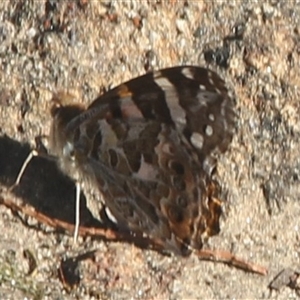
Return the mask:
M48 226L54 227L54 228L62 228L70 233L74 231L75 225L69 224L67 222L50 218L46 216L43 213L37 212L33 207L23 205L23 204L17 204L14 201L3 199L0 197L0 204L5 205L7 208L11 209L14 212L21 212L27 216L35 218L40 223L46 224ZM102 237L107 240L125 240L129 239L132 240L133 236L132 234L126 234L124 232L116 232L112 229L106 229L106 228L95 228L95 227L83 227L80 226L79 228L79 234L81 236L94 236L94 237ZM141 236L138 236L141 237ZM145 237L142 237L143 239L147 241L152 241L152 243L155 243L156 246L161 249L161 244L159 242L155 242L155 240L148 239ZM209 261L215 261L215 262L222 262L226 263L228 265L232 265L236 268L257 273L260 275L266 275L267 269L259 266L257 264L253 264L250 262L247 262L241 258L236 257L234 254L232 254L229 251L223 251L223 250L209 250L209 249L201 249L194 251L194 253L202 260L209 260Z

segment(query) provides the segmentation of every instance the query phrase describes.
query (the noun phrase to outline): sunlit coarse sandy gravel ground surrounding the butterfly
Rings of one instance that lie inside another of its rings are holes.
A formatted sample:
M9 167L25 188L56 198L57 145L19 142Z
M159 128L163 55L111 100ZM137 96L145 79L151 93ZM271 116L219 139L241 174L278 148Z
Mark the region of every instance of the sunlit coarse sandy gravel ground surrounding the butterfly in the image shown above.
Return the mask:
M74 220L74 183L38 157L7 191L35 138L49 132L51 96L64 90L90 103L148 70L208 66L234 88L238 128L219 160L227 191L221 233L227 249L267 276L164 256L124 242L80 238L0 206L1 299L297 299L270 291L284 268L300 269L300 3L264 1L1 1L0 192L50 217ZM85 224L97 224L82 196ZM97 250L66 289L63 258ZM25 252L24 252L25 251ZM36 260L31 274L30 256Z

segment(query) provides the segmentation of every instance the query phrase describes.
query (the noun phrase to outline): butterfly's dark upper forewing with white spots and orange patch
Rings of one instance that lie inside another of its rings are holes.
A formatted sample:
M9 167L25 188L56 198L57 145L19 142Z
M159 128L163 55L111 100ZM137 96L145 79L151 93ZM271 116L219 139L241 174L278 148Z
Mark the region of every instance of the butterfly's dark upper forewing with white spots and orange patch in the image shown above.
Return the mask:
M215 72L183 66L132 79L98 97L89 110L107 106L112 118L157 120L174 126L203 158L215 150L224 152L231 142L233 101Z

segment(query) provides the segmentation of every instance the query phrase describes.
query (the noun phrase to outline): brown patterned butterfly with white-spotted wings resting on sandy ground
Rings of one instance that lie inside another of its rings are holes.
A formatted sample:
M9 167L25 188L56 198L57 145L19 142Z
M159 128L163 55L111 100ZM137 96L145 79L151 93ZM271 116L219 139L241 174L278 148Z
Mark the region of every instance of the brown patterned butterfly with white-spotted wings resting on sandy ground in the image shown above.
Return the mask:
M183 256L220 231L215 156L230 145L235 112L217 73L154 71L88 107L57 95L51 115L51 153L99 190L118 226Z

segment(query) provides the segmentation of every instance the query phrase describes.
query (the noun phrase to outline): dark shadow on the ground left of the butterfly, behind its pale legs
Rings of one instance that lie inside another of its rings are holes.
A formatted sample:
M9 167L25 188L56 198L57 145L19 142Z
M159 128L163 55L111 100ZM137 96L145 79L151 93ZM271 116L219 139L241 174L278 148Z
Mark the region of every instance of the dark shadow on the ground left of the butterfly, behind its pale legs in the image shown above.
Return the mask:
M0 137L0 184L9 188L15 182L20 168L31 149L8 136ZM12 193L50 218L74 224L75 184L65 176L55 161L44 157L33 157L28 164L21 182ZM81 225L99 227L102 225L93 217L81 193ZM102 225L103 226L103 225Z

